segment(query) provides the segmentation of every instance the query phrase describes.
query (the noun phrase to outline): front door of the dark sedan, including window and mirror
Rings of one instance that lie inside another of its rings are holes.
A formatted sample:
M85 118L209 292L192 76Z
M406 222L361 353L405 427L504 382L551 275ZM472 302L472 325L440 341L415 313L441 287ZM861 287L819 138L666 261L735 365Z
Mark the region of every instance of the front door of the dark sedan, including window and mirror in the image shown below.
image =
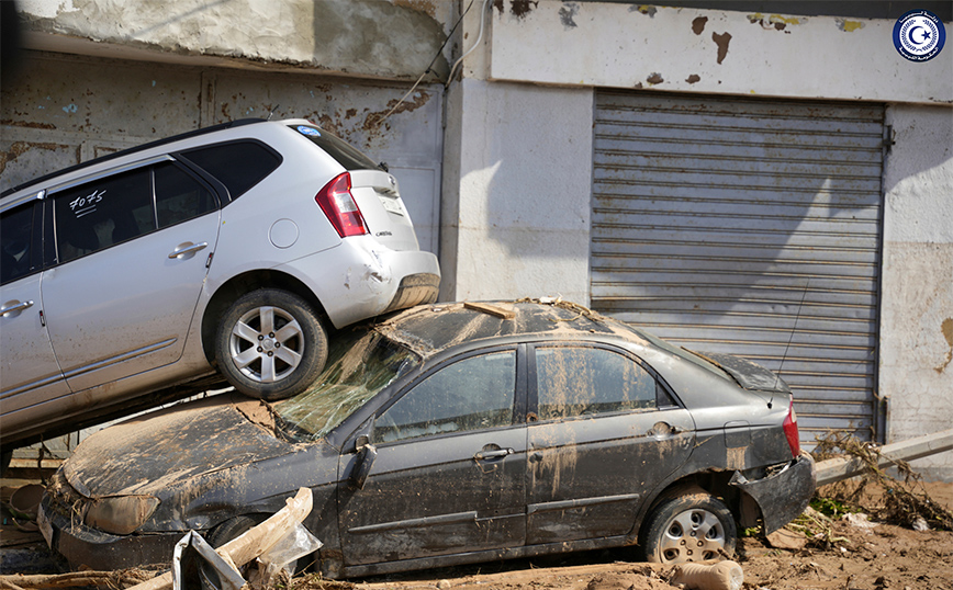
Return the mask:
M523 544L516 360L515 348L456 360L377 412L369 475L360 489L354 477L339 489L346 566ZM344 454L340 473L354 473L358 456Z

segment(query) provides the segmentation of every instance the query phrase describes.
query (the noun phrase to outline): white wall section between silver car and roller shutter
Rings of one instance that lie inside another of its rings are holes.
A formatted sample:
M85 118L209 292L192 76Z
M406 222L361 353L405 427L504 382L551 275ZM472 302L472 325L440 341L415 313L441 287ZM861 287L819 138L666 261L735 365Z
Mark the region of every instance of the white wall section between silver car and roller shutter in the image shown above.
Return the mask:
M444 156L457 175L444 192L445 251L456 253L444 298L587 305L592 90L461 84L462 139Z

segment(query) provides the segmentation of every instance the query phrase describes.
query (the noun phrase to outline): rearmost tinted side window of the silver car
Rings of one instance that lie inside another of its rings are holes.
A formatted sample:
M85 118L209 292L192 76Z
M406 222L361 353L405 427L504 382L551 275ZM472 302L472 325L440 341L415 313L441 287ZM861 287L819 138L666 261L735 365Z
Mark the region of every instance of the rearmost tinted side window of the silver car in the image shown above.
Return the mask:
M261 182L281 163L281 156L253 140L229 141L181 152L228 189L234 201Z

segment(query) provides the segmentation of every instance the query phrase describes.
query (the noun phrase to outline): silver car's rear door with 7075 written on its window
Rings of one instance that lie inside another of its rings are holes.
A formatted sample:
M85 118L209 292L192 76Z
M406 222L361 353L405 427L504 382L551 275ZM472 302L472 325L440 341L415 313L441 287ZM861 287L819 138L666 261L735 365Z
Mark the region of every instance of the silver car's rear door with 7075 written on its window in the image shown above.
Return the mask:
M49 338L74 392L178 360L218 231L212 190L170 159L54 192Z

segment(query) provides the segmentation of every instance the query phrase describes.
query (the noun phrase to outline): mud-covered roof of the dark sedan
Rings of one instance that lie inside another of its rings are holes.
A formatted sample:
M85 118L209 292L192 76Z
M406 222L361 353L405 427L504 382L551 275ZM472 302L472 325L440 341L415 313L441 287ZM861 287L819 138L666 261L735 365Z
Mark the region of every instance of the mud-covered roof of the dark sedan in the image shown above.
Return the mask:
M592 340L615 336L648 343L625 324L562 299L423 305L392 316L375 330L424 358L507 337Z

